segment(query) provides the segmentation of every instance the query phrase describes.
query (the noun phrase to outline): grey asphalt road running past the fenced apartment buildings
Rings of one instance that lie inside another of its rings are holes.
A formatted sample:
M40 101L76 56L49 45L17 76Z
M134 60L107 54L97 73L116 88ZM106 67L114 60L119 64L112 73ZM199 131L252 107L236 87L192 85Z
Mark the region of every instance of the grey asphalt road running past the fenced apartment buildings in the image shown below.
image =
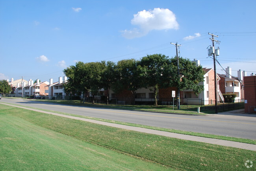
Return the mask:
M128 123L256 140L256 115L252 114L241 114L241 116L238 116L226 113L208 116L186 116L108 108L79 107L24 99L2 98L0 102Z

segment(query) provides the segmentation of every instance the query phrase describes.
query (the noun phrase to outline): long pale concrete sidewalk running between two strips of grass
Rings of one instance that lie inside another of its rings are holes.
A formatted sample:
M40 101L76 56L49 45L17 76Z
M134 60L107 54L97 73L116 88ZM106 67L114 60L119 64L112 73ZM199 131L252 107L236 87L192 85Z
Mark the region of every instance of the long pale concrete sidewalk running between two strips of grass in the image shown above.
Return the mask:
M172 137L172 138L179 138L182 140L211 143L211 144L223 145L223 146L227 146L227 147L236 147L236 148L240 148L240 149L256 151L256 145L253 145L253 144L232 142L232 141L227 141L227 140L218 140L218 139L214 139L214 138L204 138L204 137L191 136L191 135L185 135L185 134L177 134L177 133L173 133L173 132L157 131L157 130L153 130L153 129L132 127L132 126L127 126L127 125L119 125L116 123L108 123L108 122L103 122L103 121L90 120L90 119L79 118L79 117L75 117L75 116L58 114L58 113L54 113L54 112L46 112L43 110L37 110L37 109L32 109L32 108L27 108L27 107L10 105L10 104L6 104L6 103L2 103L2 104L13 106L13 107L24 108L24 109L28 109L28 110L33 110L36 112L52 114L52 115L61 116L61 117L65 117L65 118L71 118L71 119L75 119L75 120L82 120L82 121L87 121L87 122L96 123L96 124L100 124L100 125L106 125L109 127L116 127L116 128L121 128L121 129L132 130L132 131L145 132L148 134L156 134L156 135L167 136L167 137Z

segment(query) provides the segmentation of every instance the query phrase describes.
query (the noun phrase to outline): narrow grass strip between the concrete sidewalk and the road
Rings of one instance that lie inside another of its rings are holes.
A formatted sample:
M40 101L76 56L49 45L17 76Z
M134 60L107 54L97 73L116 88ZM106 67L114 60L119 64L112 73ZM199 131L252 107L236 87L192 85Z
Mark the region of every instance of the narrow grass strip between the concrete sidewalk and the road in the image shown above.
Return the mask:
M11 103L8 103L8 104L11 104ZM17 105L17 106L22 106L22 105ZM22 106L22 107L25 107L25 106ZM204 133L200 133L200 132L182 131L182 130L177 130L177 129L167 129L167 128L161 128L161 127L148 126L148 125L140 125L140 124L136 124L136 123L127 123L127 122L121 122L121 121L94 118L94 117L89 117L89 116L81 116L81 115L76 115L76 114L69 114L69 113L65 113L65 112L58 112L58 111L46 110L46 109L34 108L34 107L27 107L27 108L33 108L33 109L37 109L37 110L54 112L54 113L64 114L64 115L69 115L69 116L76 116L79 118L86 118L86 119L91 119L91 120L104 121L104 122L109 122L109 123L117 123L120 125L128 125L128 126L141 127L141 128L153 129L153 130L158 130L158 131L173 132L173 133L177 133L177 134L186 134L186 135L200 136L200 137L205 137L205 138L215 138L215 139L219 139L219 140L228 140L228 141L249 143L249 144L256 145L256 140L250 140L250 139L245 139L245 138L236 138L236 137L221 136L221 135L214 135L214 134L204 134Z

